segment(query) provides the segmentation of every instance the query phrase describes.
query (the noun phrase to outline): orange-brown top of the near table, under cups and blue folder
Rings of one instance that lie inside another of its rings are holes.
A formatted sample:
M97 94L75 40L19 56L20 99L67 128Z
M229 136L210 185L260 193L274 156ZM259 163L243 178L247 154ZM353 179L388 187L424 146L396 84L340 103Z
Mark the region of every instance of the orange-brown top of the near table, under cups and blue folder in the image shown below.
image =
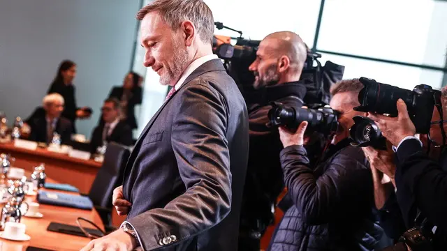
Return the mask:
M29 173L27 173L29 175ZM47 178L47 182L54 182L51 178ZM57 191L59 192L59 191ZM73 192L67 192L76 194ZM36 201L36 196L25 198L25 201ZM41 204L39 211L43 214L43 218L22 217L22 223L27 225L25 234L31 237L29 241L8 241L0 238L1 251L19 251L26 250L28 246L36 248L45 248L48 250L80 250L90 239L87 237L73 236L69 234L60 234L57 232L47 231L50 222L58 222L67 225L76 225L78 217L91 220L103 229L103 223L95 210L88 211L77 208L68 208L62 206L51 206ZM94 228L94 227L91 227Z

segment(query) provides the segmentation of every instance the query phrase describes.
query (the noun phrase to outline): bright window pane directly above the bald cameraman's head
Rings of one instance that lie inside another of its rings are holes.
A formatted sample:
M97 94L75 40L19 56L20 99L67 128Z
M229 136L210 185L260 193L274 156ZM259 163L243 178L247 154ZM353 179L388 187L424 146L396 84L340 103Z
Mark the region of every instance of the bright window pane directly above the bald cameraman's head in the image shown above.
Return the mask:
M277 0L274 3L243 0L205 0L214 22L243 32L243 37L262 40L275 31L293 31L312 47L320 1ZM215 30L216 34L237 37L234 31Z

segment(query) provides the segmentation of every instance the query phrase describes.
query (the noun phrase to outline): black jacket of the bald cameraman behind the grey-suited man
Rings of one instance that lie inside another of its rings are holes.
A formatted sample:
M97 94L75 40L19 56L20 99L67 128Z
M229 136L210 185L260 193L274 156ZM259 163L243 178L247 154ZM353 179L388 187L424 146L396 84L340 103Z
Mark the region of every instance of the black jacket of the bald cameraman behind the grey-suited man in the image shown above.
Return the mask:
M268 86L250 93L249 109L249 164L245 180L241 211L242 231L263 231L273 219L272 205L284 189L279 152L283 149L277 127L267 126L270 102L281 102L289 107L302 107L306 88L300 82ZM261 225L259 225L261 223ZM258 226L258 229L256 229Z

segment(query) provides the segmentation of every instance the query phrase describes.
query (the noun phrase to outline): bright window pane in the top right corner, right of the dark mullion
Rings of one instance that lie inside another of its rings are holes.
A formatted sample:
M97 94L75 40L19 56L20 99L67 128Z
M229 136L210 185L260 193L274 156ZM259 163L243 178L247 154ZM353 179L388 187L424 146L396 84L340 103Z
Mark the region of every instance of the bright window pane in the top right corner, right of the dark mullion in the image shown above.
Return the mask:
M325 1L318 50L443 68L447 2Z

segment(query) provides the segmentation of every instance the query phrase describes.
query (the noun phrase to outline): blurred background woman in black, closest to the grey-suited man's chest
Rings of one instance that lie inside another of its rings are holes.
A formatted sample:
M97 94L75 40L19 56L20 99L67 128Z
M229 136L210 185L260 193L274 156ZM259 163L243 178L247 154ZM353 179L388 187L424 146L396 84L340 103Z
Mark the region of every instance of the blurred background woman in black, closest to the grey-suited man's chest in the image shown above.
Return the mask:
M122 105L122 119L132 128L138 127L135 119L135 105L142 101L142 77L130 72L124 77L123 86L115 86L110 91L109 98L117 98Z

